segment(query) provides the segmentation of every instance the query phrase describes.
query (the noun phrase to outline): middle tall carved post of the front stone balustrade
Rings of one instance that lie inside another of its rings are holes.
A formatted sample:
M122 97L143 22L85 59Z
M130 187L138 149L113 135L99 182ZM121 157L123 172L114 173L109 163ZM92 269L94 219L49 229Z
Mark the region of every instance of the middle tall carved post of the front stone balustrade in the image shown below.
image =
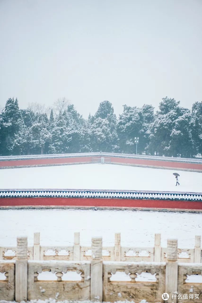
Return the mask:
M91 301L102 302L102 238L92 238Z

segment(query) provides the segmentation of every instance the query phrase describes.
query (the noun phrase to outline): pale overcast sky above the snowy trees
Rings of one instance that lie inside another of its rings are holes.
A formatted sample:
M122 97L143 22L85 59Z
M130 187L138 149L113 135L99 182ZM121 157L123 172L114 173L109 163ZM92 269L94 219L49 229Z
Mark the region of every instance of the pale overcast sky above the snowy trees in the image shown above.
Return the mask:
M0 104L202 100L202 0L0 0Z

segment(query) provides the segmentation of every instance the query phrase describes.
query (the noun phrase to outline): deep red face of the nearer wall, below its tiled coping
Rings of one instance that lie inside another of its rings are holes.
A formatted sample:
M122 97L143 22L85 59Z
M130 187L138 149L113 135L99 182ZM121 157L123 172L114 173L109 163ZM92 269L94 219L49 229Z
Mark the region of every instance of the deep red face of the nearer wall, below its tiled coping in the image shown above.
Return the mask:
M80 206L111 208L166 208L202 210L200 201L129 200L104 198L1 198L0 206Z

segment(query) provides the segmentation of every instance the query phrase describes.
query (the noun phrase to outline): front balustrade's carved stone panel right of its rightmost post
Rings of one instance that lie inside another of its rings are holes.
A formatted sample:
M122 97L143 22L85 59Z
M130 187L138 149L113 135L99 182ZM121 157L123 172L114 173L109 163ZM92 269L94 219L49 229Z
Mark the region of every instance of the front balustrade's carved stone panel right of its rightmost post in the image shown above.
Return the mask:
M187 276L191 275L202 275L202 264L178 263L178 295L181 295L182 299L184 295L187 295L187 297L184 298L184 301L187 303L195 300L202 302L202 283L186 282ZM180 300L181 298L179 298L178 301Z

